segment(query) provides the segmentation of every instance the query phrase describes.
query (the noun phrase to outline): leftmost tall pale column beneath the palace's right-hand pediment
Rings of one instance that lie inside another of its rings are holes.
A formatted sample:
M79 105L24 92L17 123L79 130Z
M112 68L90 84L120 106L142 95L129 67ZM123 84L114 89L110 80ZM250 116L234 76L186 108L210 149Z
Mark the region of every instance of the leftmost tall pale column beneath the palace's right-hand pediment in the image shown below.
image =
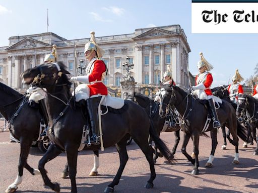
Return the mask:
M135 78L136 82L143 83L143 46L137 46L136 65L135 65Z

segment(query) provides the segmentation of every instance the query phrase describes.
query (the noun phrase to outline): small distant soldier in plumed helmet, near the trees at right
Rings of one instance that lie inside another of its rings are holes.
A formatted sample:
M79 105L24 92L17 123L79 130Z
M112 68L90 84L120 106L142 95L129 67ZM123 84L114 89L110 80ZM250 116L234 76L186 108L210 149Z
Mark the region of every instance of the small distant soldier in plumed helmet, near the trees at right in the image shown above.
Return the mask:
M228 85L229 98L230 98L230 101L233 103L234 107L237 104L238 94L243 94L244 93L243 92L243 87L239 83L243 80L244 79L239 74L238 69L236 69L236 72L235 72L234 76L232 77L233 83Z

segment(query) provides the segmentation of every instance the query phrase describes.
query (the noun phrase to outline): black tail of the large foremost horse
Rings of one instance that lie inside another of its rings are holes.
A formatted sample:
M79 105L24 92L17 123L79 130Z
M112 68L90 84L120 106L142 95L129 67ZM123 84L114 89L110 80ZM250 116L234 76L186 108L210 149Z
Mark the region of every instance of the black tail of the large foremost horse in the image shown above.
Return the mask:
M160 150L162 155L166 158L166 160L169 161L169 163L172 163L172 155L166 146L166 144L158 137L157 131L154 129L153 122L150 120L150 136L152 140L154 141L157 148Z

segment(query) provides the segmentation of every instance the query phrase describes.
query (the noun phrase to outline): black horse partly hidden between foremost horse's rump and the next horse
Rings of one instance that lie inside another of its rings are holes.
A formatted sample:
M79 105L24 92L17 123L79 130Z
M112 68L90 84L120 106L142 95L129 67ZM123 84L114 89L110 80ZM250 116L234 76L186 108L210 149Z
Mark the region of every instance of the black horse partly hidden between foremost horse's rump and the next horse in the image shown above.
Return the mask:
M174 147L171 151L171 159L174 158L174 154L176 152L177 145L180 141L180 127L179 125L175 125L175 127L169 127L169 126L164 126L166 118L161 118L159 116L159 103L150 99L148 96L145 96L141 94L140 92L135 93L135 99L136 103L142 106L148 115L150 115L151 120L153 122L153 126L156 129L158 135L160 135L161 132L175 132L175 144ZM173 112L171 112L173 113ZM172 116L172 115L171 115ZM172 118L172 117L171 117ZM158 157L162 157L160 153L157 151L157 146L154 144L154 163L156 163L156 160Z

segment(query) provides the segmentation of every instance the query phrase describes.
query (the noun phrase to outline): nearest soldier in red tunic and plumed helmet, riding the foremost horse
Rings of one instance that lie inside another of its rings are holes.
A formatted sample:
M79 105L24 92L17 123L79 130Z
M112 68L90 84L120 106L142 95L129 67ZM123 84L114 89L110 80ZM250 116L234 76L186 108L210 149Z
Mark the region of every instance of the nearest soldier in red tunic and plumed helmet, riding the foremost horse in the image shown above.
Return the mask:
M102 96L107 95L107 87L103 83L107 73L107 66L104 61L100 59L104 52L105 51L96 43L95 32L91 32L91 40L85 44L84 48L84 55L89 61L86 67L87 75L73 76L71 78L73 81L87 84L86 90L90 98L87 99L86 102L92 130L92 136L88 143L94 143L95 145L100 143L98 107L104 99Z

